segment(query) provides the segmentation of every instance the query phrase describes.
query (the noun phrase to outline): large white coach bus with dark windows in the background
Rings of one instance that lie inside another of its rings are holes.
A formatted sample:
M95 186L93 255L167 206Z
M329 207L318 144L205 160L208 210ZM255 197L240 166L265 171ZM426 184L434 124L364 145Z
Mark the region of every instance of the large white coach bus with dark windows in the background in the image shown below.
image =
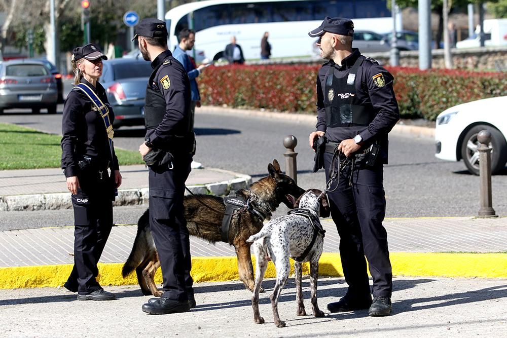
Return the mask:
M177 6L165 20L171 50L179 31L191 28L196 31L196 50L207 58L221 58L236 36L245 59L259 59L266 31L272 58L312 55L315 39L308 32L327 16L351 18L356 30L386 33L393 27L385 0L207 0Z

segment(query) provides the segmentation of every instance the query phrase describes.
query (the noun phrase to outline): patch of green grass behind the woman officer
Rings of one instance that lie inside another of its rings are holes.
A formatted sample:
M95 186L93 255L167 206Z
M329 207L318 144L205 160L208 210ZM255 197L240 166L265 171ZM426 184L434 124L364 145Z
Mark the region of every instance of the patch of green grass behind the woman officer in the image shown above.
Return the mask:
M61 136L0 123L0 170L59 168ZM115 149L120 166L143 164L138 152Z

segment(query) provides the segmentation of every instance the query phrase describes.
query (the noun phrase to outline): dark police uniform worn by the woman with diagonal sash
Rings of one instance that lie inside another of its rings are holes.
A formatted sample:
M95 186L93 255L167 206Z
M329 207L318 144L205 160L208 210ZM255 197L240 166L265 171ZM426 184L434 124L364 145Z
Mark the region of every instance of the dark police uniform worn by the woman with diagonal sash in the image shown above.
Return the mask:
M104 88L83 79L109 109L114 112ZM115 181L118 159L111 153L104 121L93 102L78 89L67 95L62 116L62 169L65 177L78 176L80 188L72 195L74 207L74 267L65 287L79 294L100 288L95 280L97 262L113 227ZM111 176L107 169L111 170ZM79 287L78 287L79 285Z

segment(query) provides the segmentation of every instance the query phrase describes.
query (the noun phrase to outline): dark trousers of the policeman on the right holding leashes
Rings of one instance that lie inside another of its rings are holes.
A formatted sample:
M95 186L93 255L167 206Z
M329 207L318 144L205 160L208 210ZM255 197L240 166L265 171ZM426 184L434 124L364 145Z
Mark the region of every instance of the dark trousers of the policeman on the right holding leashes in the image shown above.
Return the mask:
M324 153L326 180L332 154ZM352 175L352 186L349 185ZM336 179L331 190L336 187ZM338 189L328 193L331 216L340 235L340 258L343 275L349 285L347 294L370 294L366 259L373 278L373 295L390 297L392 272L387 248L387 233L382 226L385 216L383 166L340 173Z

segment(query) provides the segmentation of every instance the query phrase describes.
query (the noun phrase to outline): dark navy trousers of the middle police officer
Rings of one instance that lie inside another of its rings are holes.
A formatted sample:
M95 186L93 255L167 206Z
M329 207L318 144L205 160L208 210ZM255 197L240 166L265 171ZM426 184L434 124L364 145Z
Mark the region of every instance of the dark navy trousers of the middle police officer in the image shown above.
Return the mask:
M189 155L176 156L172 169L150 168L149 173L150 229L162 268L163 297L175 301L186 301L194 294L189 232L183 209L191 163Z

